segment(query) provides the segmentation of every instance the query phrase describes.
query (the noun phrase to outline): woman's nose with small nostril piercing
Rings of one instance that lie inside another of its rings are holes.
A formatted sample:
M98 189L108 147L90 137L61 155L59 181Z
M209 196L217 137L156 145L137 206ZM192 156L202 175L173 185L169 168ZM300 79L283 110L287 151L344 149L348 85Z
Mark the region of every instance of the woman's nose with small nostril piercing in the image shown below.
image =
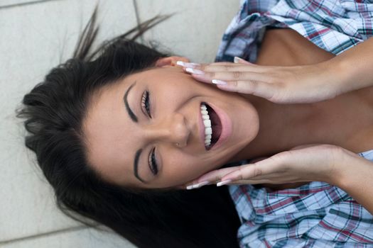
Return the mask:
M181 113L173 113L149 125L146 130L149 142L167 142L175 147L185 147L188 144L190 130Z

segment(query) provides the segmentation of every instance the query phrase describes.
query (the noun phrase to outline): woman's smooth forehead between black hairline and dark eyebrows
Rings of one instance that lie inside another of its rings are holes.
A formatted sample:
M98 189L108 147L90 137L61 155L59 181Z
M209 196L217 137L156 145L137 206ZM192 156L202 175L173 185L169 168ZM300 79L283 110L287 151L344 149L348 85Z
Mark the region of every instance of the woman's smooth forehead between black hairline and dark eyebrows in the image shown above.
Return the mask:
M119 84L123 84L122 81ZM117 147L125 148L131 139L126 134L131 132L131 123L126 120L122 101L124 87L119 84L105 87L92 96L87 115L83 122L83 132L87 144L87 160L94 170L106 179L113 179L114 171L119 166ZM121 114L122 112L122 114ZM128 118L129 119L129 118ZM121 130L121 132L119 132ZM119 143L120 142L120 143ZM128 149L127 149L128 150ZM126 159L127 157L127 159ZM129 173L129 156L121 156L121 167ZM123 160L124 159L124 160Z

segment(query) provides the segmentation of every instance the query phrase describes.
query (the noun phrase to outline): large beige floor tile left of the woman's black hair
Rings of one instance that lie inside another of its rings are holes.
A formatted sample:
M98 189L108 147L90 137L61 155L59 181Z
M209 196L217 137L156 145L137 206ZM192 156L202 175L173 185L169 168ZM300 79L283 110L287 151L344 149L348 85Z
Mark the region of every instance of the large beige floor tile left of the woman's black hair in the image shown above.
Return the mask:
M0 242L77 225L55 208L50 186L23 146L23 127L14 110L52 67L72 55L96 2L47 1L0 9ZM100 40L136 26L133 1L101 1L99 21Z

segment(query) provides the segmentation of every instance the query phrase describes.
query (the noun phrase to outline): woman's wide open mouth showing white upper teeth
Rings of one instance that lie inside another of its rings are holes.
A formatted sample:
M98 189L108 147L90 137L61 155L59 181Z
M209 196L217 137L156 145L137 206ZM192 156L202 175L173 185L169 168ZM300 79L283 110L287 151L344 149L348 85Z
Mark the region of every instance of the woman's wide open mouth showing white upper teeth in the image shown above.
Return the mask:
M201 114L205 127L205 149L210 150L222 134L222 123L214 109L205 102L201 103Z

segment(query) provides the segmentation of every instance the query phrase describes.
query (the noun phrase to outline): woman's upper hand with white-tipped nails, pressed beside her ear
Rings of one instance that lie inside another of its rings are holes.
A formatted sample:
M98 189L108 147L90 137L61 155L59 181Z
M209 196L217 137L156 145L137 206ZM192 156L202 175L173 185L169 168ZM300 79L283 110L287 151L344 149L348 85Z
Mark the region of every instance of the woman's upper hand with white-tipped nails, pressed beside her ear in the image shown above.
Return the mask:
M205 83L225 81L219 89L252 94L274 103L313 103L345 93L335 63L274 67L252 64L235 57L235 63L178 63L193 78ZM215 83L216 84L216 83Z

